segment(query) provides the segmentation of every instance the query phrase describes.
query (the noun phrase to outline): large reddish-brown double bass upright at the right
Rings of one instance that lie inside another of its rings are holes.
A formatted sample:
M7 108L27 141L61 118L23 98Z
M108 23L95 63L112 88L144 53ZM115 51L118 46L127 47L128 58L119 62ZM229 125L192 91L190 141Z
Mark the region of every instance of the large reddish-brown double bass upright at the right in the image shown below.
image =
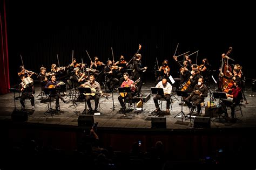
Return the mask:
M221 91L224 91L225 93L228 92L228 90L233 86L234 82L233 80L228 80L224 77L227 76L229 77L230 74L232 72L232 68L230 65L228 65L228 55L231 54L232 52L232 47L228 48L228 52L226 54L222 54L222 59L221 59L221 71L219 74L219 89L221 89ZM228 73L229 72L229 73Z

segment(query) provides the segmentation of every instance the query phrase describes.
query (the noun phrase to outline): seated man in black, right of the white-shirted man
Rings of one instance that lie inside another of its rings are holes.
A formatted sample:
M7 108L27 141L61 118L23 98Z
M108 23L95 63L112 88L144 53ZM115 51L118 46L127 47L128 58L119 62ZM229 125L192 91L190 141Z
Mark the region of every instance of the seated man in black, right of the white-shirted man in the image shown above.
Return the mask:
M196 102L197 105L197 114L196 116L200 115L201 112L201 102L204 102L205 97L208 95L208 89L204 84L203 77L199 77L198 84L194 86L193 92L191 93L191 96L187 97L185 99L185 103L187 104L188 108L192 107L191 101ZM191 112L193 112L194 108L191 108Z

